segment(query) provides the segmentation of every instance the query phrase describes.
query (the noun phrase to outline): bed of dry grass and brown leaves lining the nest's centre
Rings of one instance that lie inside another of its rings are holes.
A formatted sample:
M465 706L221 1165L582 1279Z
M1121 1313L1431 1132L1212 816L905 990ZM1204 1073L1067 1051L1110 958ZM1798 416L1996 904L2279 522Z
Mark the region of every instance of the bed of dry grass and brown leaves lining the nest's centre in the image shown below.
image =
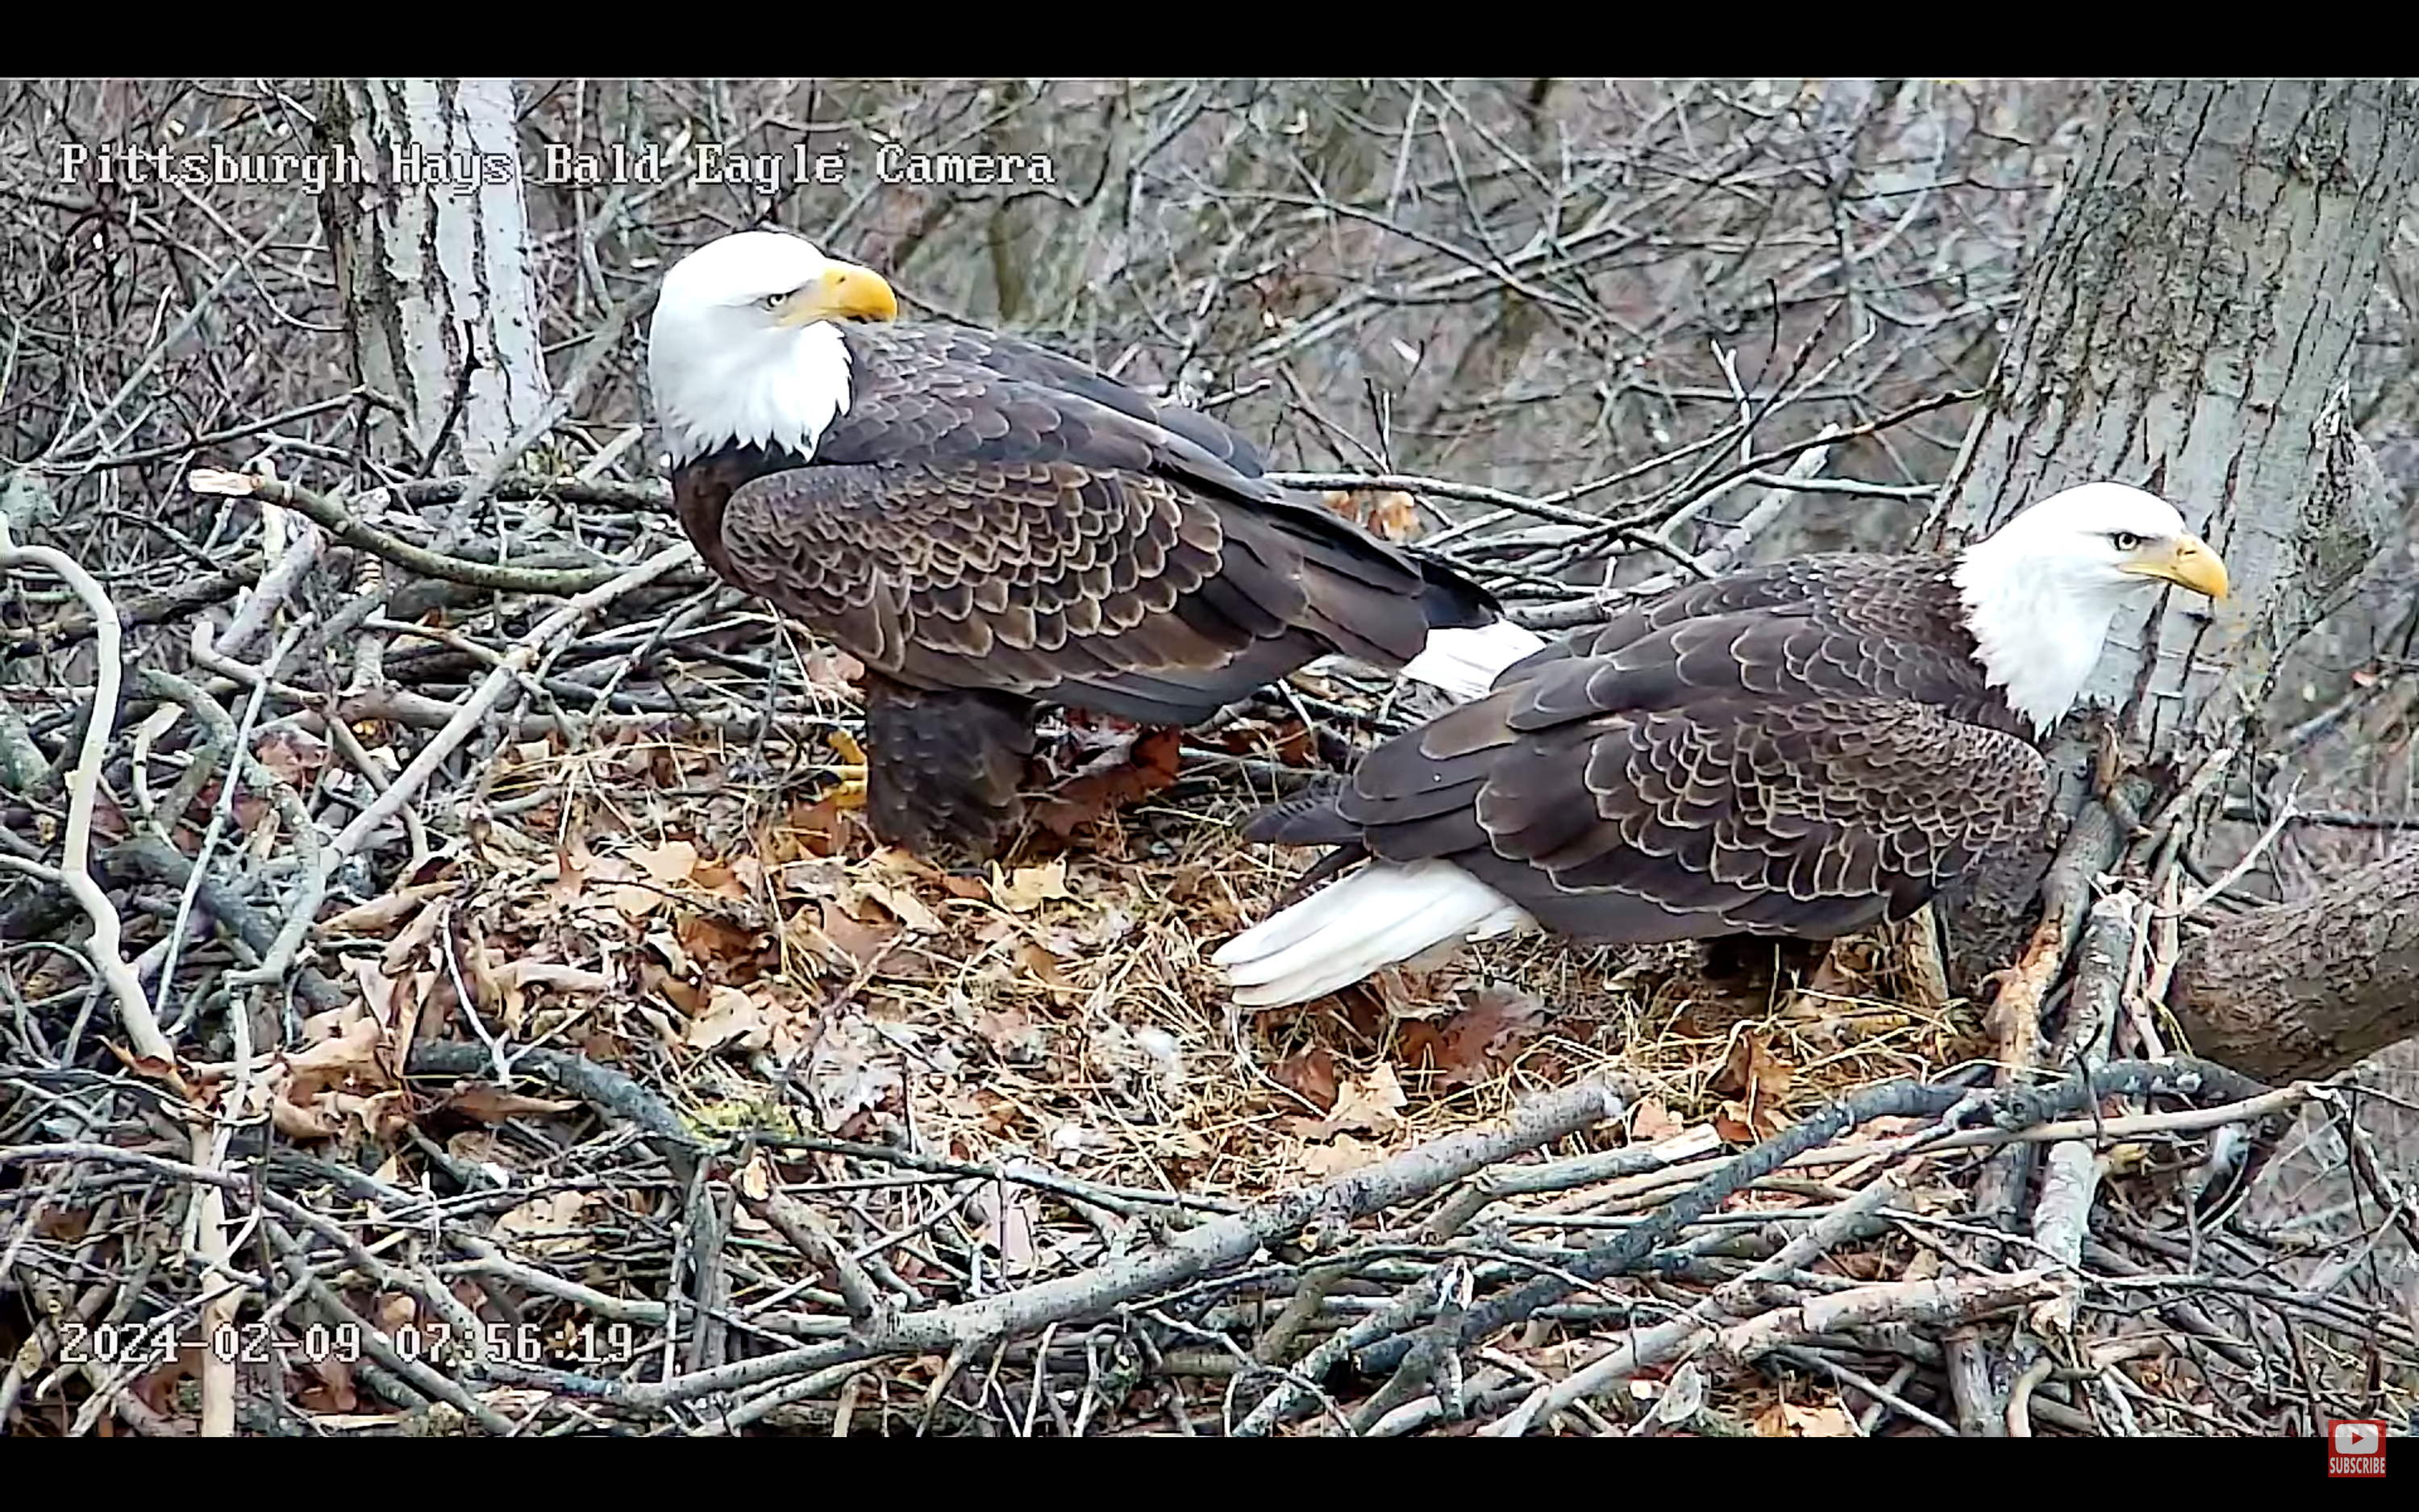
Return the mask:
M382 919L380 970L426 982L421 1038L472 1033L438 968L452 931L515 1043L624 1064L699 1132L1033 1152L1217 1198L1333 1176L1587 1074L1635 1079L1679 1123L1744 1118L1754 1091L1768 1130L1984 1050L1976 1014L1906 1002L1875 941L1838 951L1826 992L1710 982L1693 946L1529 939L1239 1014L1210 951L1277 907L1306 854L1234 837L1255 793L1231 772L1197 762L1076 844L1033 835L989 876L953 876L881 849L847 793L818 796L839 755L636 728L578 755L515 745L491 798L539 801L467 825ZM735 777L767 767L786 777ZM515 985L537 968L593 975ZM1749 1057L1754 1089L1732 1072Z

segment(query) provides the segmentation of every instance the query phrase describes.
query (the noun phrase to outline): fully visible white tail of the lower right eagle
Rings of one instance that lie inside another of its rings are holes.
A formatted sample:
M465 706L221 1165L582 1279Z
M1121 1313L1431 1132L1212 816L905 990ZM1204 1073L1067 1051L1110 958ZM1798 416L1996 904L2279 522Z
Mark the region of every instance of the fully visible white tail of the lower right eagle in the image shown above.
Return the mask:
M1234 1002L1275 1009L1359 982L1434 946L1531 929L1517 902L1451 861L1372 861L1219 946Z

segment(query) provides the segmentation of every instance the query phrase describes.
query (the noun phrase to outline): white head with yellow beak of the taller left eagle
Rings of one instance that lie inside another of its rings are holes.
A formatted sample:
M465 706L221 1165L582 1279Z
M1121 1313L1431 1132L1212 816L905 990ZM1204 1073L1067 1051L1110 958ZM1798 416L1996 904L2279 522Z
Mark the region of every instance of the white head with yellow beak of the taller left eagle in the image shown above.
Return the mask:
M806 237L743 230L672 264L646 334L646 380L672 462L721 445L813 455L849 409L849 348L835 319L893 319L871 269Z

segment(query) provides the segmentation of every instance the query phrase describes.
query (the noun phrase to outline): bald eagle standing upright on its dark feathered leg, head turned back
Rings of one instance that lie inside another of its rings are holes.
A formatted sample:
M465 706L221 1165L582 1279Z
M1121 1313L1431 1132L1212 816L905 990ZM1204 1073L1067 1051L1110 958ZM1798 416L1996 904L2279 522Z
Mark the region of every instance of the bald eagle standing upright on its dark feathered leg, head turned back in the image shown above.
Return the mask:
M1321 656L1403 668L1432 627L1497 624L1473 583L1268 481L1219 421L895 317L881 276L738 232L672 266L648 329L689 539L866 665L885 842L1014 839L1038 702L1188 726Z

